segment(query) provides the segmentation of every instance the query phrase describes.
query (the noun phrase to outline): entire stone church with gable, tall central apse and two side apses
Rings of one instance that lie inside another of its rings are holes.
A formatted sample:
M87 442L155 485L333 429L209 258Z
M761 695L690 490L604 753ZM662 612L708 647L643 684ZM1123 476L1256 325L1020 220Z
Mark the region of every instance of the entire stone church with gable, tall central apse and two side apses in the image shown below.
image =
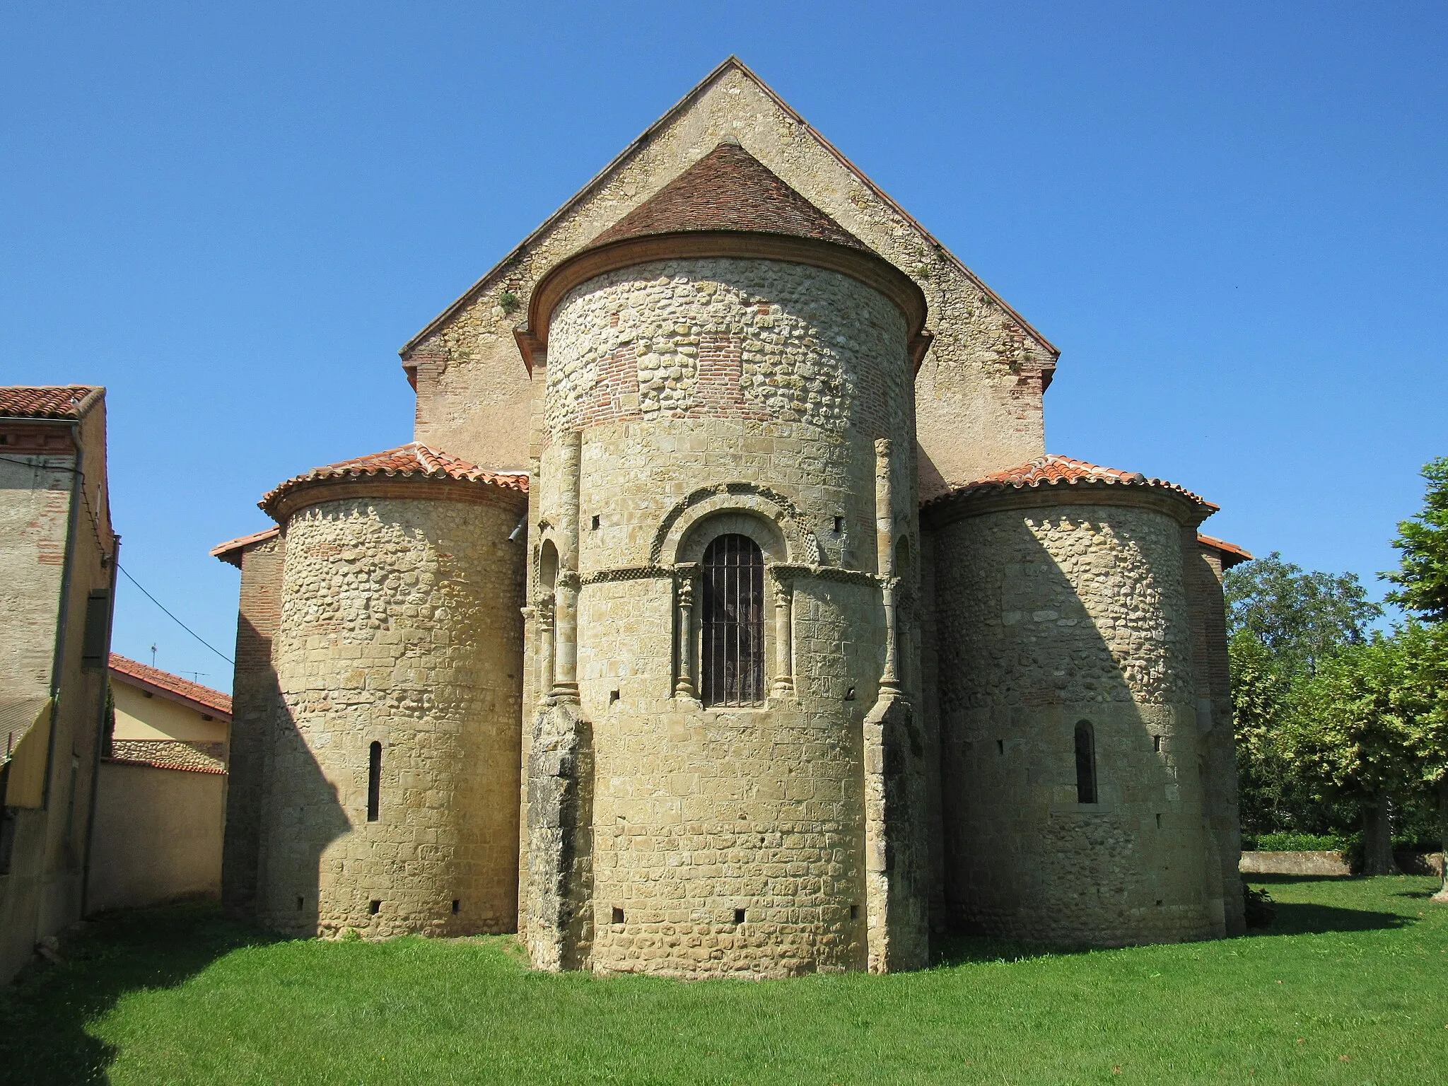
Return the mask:
M224 898L540 969L1242 927L1215 505L1045 453L1057 350L730 59L262 498Z

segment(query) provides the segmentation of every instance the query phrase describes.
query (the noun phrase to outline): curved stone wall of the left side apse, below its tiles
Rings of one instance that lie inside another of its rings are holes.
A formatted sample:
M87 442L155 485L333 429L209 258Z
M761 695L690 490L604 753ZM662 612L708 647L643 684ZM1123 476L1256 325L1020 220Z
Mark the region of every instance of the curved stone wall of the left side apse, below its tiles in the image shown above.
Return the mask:
M287 524L259 857L268 927L514 930L523 556L507 536L523 497L478 484L471 500L424 500L437 485L397 497L379 482L391 497L368 497L352 484ZM374 741L381 804L368 821Z

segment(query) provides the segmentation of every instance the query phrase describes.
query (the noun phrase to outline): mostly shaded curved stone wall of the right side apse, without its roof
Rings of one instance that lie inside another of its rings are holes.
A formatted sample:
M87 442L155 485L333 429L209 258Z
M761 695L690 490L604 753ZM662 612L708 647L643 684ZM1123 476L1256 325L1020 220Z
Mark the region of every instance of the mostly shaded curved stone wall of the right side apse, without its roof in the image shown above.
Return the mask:
M1093 944L1224 933L1183 526L1151 504L1005 508L938 529L957 925ZM1079 721L1095 734L1095 804L1077 802Z

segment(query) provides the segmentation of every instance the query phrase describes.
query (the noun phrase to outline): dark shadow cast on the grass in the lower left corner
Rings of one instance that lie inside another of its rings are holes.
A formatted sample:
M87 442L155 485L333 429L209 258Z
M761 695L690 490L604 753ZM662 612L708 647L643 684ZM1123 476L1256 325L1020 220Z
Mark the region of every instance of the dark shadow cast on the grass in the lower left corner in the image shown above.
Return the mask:
M174 988L219 957L274 935L216 904L110 912L68 934L59 963L36 961L0 988L0 1083L109 1082L111 1045L87 1025L127 992Z

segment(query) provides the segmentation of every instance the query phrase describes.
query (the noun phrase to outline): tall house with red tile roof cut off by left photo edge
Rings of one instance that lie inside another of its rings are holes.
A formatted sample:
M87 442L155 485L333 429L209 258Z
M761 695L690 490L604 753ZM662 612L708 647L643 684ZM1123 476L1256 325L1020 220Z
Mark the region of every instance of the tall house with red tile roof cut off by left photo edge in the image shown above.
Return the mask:
M0 983L85 912L119 544L106 390L0 388Z

